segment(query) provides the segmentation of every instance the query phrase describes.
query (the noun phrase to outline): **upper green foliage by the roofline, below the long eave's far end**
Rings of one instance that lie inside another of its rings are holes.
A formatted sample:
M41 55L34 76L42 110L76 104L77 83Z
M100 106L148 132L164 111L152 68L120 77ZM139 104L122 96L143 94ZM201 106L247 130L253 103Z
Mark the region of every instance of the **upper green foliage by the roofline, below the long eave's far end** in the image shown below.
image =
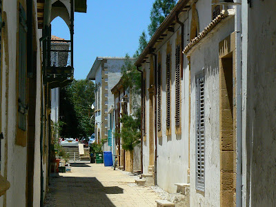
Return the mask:
M124 88L130 88L134 94L140 94L141 73L137 70L133 61L130 61L128 54L124 66L121 67L121 81Z

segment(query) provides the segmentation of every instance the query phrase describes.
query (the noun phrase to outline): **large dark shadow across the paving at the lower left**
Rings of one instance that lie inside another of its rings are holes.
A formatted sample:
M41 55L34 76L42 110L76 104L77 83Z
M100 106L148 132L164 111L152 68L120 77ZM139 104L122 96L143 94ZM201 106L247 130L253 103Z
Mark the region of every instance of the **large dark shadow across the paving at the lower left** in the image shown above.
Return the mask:
M115 206L108 194L122 194L118 186L104 187L96 177L50 177L45 206Z

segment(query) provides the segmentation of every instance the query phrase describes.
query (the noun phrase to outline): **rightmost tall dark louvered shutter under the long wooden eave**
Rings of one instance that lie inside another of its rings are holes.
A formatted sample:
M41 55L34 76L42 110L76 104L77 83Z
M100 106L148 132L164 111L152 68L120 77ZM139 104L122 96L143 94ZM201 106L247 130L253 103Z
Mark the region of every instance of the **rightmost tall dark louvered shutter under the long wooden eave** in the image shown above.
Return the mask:
M175 126L180 126L180 45L175 49Z

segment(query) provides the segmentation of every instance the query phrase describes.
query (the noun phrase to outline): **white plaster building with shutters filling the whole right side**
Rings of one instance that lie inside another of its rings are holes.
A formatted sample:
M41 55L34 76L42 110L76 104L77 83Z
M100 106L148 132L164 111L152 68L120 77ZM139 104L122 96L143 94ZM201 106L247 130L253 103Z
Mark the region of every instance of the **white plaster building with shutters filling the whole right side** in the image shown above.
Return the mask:
M190 206L276 204L275 7L180 0L136 62L144 77L143 172L170 193L187 183ZM183 67L175 57L182 23Z

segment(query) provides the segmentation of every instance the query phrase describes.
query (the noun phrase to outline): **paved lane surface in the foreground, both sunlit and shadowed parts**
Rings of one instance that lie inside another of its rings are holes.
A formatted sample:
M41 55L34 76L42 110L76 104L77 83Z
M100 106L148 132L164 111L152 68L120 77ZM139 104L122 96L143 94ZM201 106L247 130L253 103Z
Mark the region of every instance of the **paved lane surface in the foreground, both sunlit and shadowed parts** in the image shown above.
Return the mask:
M137 176L103 164L71 164L72 172L50 177L46 207L156 206L160 199L150 187L137 186Z

